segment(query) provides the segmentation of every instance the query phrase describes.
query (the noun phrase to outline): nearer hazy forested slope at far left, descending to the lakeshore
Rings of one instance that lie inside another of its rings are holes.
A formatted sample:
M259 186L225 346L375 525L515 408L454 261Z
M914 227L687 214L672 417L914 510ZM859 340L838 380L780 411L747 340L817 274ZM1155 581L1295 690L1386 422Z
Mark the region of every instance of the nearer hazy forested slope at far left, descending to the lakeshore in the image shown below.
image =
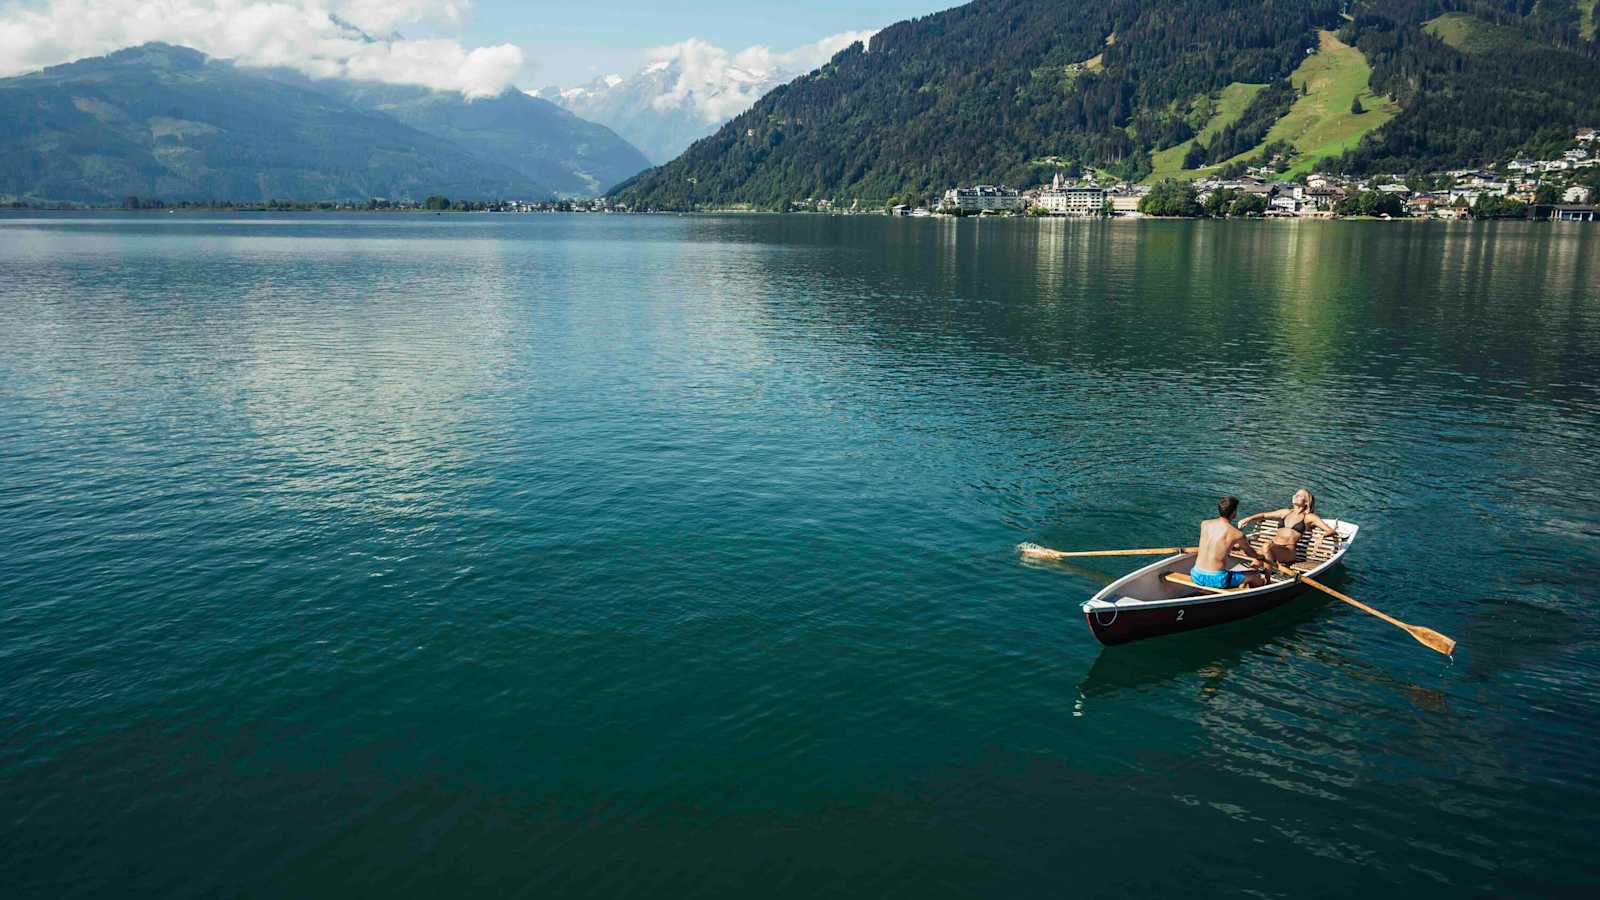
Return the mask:
M547 197L549 184L309 86L170 45L0 80L0 197Z

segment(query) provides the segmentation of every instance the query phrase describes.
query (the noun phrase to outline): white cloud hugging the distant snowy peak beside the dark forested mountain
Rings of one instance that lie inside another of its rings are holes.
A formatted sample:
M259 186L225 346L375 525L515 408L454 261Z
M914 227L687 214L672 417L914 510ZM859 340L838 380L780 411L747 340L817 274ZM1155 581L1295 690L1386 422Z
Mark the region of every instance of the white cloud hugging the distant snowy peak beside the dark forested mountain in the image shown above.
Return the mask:
M691 37L648 51L650 70L674 70L677 78L651 101L656 109L691 106L706 122L726 122L749 109L774 85L810 72L875 30L840 32L787 51L765 43L730 53Z

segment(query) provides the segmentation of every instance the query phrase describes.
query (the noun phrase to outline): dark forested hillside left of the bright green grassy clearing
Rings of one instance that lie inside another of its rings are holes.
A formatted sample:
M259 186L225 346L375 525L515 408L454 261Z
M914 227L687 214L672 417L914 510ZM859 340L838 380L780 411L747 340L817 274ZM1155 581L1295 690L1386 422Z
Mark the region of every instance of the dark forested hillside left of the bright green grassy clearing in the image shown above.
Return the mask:
M886 202L1048 179L1058 159L1123 178L1194 136L1195 98L1282 80L1341 0L974 0L890 26L758 101L614 197L654 208ZM1115 40L1107 40L1115 35Z

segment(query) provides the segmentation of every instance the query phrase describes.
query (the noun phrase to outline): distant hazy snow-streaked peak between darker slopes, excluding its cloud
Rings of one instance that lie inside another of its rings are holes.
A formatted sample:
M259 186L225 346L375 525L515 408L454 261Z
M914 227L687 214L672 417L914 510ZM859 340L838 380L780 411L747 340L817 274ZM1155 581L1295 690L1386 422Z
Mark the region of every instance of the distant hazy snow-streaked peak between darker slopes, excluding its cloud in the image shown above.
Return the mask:
M632 77L605 75L576 88L541 88L534 96L614 130L659 165L798 74L742 66L699 74L674 58Z

